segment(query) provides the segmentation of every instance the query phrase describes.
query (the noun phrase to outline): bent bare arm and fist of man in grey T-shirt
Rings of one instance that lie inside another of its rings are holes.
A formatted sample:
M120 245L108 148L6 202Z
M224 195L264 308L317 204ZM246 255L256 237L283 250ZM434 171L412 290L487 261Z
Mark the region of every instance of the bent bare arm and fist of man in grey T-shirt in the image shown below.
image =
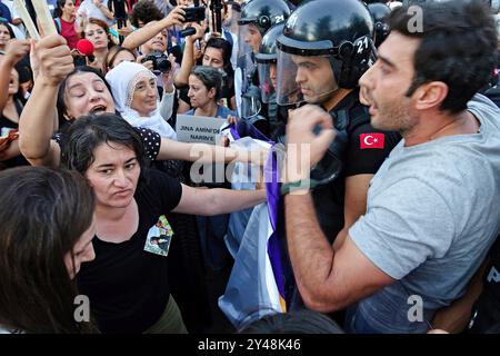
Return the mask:
M323 128L319 136L313 134L317 125ZM294 110L287 126L286 180L304 181L333 137L327 112L312 106ZM309 155L302 155L303 147L310 148ZM332 248L320 228L308 187L286 196L284 214L290 260L307 307L322 313L338 310L393 281L349 235L338 250Z

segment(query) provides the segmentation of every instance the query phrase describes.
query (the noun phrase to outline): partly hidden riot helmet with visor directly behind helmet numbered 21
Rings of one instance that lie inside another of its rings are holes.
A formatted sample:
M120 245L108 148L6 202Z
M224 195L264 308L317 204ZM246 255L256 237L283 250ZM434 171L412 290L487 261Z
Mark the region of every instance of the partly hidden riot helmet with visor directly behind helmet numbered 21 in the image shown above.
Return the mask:
M276 39L283 32L284 22L271 27L262 38L259 53L256 55L257 70L262 102L270 102L274 98L277 80L277 47Z

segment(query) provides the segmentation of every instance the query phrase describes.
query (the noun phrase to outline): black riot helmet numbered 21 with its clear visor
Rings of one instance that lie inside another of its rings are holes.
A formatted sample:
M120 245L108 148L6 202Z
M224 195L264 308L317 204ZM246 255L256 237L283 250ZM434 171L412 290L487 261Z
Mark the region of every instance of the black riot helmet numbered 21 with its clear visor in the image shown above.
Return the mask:
M372 59L372 38L373 20L359 0L314 0L298 7L277 40L278 103L321 103L321 97L327 98L339 88L357 87ZM318 93L316 101L309 100L304 92L308 88L297 82L298 69L307 68L307 58L311 57L328 60L331 72L324 76L333 75L336 81L328 92Z

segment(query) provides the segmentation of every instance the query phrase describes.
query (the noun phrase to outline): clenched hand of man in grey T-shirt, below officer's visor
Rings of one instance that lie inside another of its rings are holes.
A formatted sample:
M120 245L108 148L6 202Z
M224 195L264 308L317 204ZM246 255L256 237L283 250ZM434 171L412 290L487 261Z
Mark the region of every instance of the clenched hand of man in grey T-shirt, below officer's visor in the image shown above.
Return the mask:
M319 135L316 127L321 127ZM306 179L334 138L331 116L318 106L307 105L289 111L287 125L287 172L289 181Z

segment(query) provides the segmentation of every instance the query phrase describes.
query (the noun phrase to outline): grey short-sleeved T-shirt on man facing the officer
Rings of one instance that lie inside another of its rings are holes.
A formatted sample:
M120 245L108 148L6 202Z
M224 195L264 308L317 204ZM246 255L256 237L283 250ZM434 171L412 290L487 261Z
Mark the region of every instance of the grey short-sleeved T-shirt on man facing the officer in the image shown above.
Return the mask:
M356 306L353 323L366 320L364 330L427 332L436 309L462 296L499 234L500 110L477 96L469 111L478 134L401 141L370 182L367 214L349 235L396 283ZM414 300L421 320L408 317Z

